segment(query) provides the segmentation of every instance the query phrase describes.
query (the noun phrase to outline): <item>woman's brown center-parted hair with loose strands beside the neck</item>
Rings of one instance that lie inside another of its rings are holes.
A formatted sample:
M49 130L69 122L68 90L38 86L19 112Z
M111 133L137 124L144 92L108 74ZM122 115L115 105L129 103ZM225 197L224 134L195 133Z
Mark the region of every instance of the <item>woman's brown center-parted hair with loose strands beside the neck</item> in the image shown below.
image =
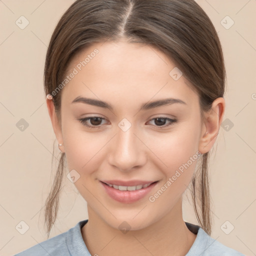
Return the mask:
M201 120L214 99L223 97L226 73L221 44L209 17L193 0L76 0L61 16L50 38L44 67L45 95L63 81L76 53L92 43L121 38L155 46L176 63L198 93ZM54 94L61 124L61 90ZM198 223L210 235L208 153L200 158L190 191ZM64 165L65 153L61 153L45 202L48 236L57 216Z

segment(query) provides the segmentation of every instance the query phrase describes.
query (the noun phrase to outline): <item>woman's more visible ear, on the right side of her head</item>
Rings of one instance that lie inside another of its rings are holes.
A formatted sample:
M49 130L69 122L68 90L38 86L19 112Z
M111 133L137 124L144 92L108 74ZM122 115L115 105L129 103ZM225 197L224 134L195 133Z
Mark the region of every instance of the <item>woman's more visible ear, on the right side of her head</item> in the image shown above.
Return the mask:
M199 141L199 152L204 154L213 146L225 111L225 100L223 97L216 98L211 109L204 112L205 121L202 120L201 137Z

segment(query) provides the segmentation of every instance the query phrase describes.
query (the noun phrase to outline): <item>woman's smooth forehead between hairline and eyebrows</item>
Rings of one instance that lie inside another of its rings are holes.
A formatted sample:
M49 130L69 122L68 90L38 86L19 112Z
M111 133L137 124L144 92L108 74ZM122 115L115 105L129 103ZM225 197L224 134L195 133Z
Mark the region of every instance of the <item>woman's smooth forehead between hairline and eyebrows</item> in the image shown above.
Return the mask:
M168 94L192 103L197 95L183 76L173 79L172 70L176 68L171 59L151 45L95 43L72 58L66 74L74 70L76 74L63 87L62 94L69 102L79 95L90 95L105 101L132 97L134 104L136 100L144 102Z

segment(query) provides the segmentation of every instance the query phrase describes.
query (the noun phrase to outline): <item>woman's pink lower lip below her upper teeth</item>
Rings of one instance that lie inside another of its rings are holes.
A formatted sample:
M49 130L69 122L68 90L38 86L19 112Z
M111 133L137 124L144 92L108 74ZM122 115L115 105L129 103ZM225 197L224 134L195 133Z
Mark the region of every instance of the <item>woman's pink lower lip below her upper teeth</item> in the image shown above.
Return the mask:
M105 188L106 193L111 198L115 199L118 202L123 202L123 203L132 203L132 202L135 202L135 201L143 198L157 184L157 182L151 183L149 186L147 186L145 188L138 189L138 190L121 191L119 189L115 189L112 186L109 186L109 185L105 184L104 182L100 181L100 183Z

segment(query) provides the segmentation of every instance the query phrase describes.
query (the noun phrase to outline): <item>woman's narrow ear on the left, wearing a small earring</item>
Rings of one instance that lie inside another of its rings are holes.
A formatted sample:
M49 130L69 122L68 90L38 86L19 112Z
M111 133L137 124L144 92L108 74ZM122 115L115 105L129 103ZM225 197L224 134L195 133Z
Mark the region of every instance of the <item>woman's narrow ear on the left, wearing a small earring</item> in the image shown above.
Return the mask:
M52 101L52 96L51 95L47 95L46 96L46 105L48 108L48 113L50 116L50 120L51 120L51 124L56 136L56 139L58 141L59 144L62 144L62 146L58 146L59 150L64 152L64 145L63 145L63 137L62 137L62 131L61 131L61 125L58 122L58 118L55 112L55 107Z

